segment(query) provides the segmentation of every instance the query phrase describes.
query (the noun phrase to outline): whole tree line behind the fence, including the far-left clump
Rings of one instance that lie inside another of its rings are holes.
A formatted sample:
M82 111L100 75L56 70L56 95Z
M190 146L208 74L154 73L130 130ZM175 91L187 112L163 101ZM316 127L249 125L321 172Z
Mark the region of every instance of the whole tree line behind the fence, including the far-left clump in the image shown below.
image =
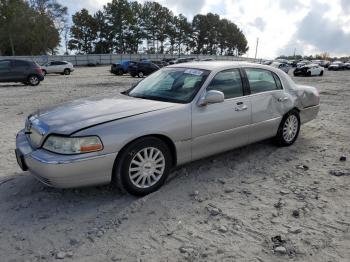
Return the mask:
M57 0L0 0L0 55L159 53L242 55L243 32L208 13L192 21L157 2L112 0L94 14L82 9L68 26Z

